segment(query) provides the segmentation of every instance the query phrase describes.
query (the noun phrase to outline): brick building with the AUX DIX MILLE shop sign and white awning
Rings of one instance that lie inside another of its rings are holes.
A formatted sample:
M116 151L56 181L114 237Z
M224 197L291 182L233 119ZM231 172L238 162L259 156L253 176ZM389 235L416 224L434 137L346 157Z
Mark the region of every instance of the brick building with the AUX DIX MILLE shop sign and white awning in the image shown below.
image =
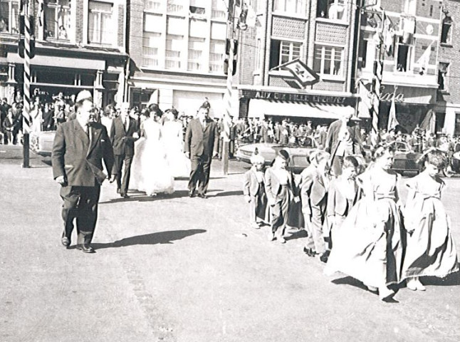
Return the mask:
M240 32L240 115L329 123L354 113L355 0L249 2L258 25ZM318 83L304 89L276 68L297 58L318 74Z

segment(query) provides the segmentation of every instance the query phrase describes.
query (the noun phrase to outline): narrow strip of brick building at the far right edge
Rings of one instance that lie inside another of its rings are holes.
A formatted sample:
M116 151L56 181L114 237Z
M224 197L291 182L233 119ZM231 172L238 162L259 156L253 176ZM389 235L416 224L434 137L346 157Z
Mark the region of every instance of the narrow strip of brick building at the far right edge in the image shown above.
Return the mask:
M443 2L438 55L437 132L460 135L460 19L458 1Z

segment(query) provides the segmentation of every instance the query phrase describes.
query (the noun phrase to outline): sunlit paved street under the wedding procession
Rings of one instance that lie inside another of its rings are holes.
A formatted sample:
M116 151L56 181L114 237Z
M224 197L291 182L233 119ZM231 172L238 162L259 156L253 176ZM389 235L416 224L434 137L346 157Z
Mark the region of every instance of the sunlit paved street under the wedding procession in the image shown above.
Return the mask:
M21 168L0 145L0 341L460 341L460 276L425 279L394 303L323 275L303 234L268 242L247 227L245 165L211 172L209 199L121 199L103 185L93 246L61 246L61 199L46 158ZM43 162L45 161L45 162ZM460 177L443 202L460 248Z

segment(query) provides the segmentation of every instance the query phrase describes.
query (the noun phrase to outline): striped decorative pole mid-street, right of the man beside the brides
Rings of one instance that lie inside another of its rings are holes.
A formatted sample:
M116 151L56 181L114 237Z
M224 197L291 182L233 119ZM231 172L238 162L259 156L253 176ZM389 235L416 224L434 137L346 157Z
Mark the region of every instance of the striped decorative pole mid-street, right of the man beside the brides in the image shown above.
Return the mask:
M233 25L232 30L233 32ZM232 37L230 39L229 47L229 68L227 73L227 82L226 82L226 93L225 93L225 116L223 118L224 123L224 145L222 146L222 167L224 175L229 173L229 152L230 152L230 129L231 129L231 88L233 83L233 61L234 61L234 49L235 41Z

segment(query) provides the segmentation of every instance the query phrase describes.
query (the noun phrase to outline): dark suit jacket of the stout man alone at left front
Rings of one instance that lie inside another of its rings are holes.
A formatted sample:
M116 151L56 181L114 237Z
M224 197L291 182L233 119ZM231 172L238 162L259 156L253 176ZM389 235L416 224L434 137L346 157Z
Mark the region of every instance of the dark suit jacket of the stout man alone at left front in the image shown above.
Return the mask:
M95 187L110 177L113 167L113 149L107 130L100 123L90 128L91 139L78 120L61 123L51 152L53 177L64 176L70 186Z

